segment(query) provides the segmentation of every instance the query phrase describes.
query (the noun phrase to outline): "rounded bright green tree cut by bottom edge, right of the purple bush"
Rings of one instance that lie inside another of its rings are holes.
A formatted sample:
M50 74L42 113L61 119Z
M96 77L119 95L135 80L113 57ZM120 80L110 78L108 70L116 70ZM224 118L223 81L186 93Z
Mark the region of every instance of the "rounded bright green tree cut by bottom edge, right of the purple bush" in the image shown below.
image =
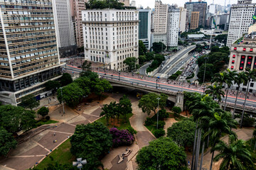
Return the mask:
M186 168L186 153L169 137L161 137L142 147L136 157L139 170Z

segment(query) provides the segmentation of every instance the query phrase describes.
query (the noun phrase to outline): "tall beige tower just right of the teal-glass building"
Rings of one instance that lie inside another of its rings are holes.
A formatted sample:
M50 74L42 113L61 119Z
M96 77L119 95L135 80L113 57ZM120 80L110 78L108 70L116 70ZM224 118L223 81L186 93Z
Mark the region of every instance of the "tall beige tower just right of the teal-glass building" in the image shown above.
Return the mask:
M154 10L154 33L166 33L168 4L162 4L160 0L156 0Z

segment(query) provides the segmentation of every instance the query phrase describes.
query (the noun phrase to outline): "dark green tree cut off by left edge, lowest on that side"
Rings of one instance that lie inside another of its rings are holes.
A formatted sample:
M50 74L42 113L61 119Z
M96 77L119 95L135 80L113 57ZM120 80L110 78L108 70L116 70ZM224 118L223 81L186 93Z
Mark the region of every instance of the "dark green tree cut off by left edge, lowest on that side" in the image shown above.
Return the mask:
M0 127L0 155L6 156L11 148L16 148L17 142L10 132Z

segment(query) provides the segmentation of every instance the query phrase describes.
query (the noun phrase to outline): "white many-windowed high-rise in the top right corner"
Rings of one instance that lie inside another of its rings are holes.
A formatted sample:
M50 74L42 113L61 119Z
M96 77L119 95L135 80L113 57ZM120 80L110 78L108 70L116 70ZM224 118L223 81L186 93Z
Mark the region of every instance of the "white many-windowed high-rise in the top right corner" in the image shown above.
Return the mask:
M233 4L230 10L230 23L228 28L227 46L230 47L233 42L247 33L248 28L255 23L252 16L255 15L255 6L251 0L238 1Z

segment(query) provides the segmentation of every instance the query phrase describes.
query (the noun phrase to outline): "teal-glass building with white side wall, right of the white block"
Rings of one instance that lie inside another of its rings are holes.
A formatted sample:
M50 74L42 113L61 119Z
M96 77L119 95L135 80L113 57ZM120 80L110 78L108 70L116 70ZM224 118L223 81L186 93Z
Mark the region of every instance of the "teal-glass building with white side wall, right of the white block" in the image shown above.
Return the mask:
M150 50L151 45L151 9L139 9L139 40Z

